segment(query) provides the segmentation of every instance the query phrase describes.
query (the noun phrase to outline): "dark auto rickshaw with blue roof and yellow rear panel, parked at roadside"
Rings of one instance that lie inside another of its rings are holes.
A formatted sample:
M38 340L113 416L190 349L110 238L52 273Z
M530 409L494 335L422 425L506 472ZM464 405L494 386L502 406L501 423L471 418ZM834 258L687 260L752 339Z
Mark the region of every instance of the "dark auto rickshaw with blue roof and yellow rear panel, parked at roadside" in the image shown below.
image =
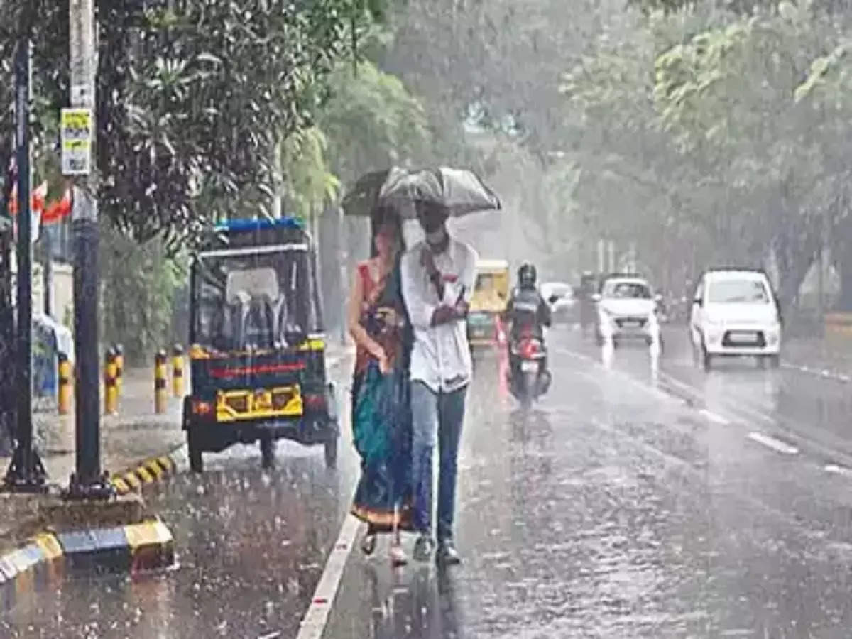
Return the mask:
M281 438L325 446L337 463L337 399L325 368L314 245L291 218L216 227L190 272L190 467L204 452Z

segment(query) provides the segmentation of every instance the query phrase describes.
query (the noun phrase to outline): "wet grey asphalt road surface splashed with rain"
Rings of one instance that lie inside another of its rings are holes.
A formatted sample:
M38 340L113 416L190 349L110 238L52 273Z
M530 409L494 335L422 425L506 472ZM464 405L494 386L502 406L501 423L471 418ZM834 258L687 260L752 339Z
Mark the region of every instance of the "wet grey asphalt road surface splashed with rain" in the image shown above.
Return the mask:
M463 565L394 572L383 545L355 548L325 639L849 636L849 383L748 361L705 373L682 331L659 358L549 339L554 384L529 415L497 356L478 361ZM333 473L296 446L271 474L252 449L211 458L148 496L176 570L68 582L0 636L295 637L354 488L342 452Z

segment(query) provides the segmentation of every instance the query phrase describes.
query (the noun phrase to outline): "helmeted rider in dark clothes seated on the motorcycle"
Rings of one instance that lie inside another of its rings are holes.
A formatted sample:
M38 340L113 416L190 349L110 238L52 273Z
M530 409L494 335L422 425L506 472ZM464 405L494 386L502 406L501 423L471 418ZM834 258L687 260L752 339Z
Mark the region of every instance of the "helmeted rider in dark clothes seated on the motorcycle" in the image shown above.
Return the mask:
M544 327L550 328L550 305L538 292L536 279L538 272L533 264L524 262L518 269L518 285L512 290L506 305L505 318L511 325L509 330L509 376L512 377L519 365L518 358L512 354L512 346L521 337L535 337L544 347ZM544 391L550 386L550 372L547 359L544 359Z

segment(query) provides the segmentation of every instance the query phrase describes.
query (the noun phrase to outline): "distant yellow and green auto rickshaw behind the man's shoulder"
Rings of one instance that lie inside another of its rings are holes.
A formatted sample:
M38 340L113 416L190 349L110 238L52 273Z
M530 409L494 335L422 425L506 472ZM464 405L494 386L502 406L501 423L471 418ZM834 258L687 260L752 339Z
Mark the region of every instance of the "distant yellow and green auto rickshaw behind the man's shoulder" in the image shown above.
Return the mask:
M470 348L492 347L504 336L501 316L509 300L509 262L476 262L476 285L468 314Z

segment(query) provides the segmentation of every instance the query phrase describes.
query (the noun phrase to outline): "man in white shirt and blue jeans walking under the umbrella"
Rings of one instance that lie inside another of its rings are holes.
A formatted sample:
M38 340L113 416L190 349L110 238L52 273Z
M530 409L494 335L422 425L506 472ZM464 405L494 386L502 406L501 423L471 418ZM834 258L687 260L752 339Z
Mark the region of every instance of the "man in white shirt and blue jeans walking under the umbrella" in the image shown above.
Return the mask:
M458 443L472 367L465 319L476 279L476 253L452 239L446 210L417 203L426 239L402 257L402 295L414 327L412 380L412 475L414 527L420 537L414 558L428 561L432 537L432 452L439 452L438 551L436 559L458 564L452 538Z

